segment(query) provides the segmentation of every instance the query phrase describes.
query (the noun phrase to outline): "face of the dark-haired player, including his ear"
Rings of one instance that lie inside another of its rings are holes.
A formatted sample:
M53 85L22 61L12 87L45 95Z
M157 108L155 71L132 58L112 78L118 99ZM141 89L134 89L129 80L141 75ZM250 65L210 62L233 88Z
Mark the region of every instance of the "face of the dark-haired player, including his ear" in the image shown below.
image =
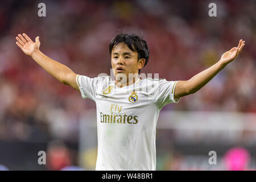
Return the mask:
M138 61L137 52L131 51L125 43L119 43L112 49L111 64L115 78L126 76L125 81L128 81L129 73L138 73L139 69L143 68L145 60Z

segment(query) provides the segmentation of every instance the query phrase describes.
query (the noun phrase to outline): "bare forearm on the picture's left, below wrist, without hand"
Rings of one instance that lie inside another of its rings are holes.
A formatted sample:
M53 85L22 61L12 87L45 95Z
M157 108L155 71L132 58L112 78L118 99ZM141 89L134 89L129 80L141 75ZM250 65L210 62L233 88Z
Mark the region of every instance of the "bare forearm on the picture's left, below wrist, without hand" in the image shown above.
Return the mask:
M64 82L65 76L68 75L68 73L73 72L70 68L68 68L64 64L61 64L55 60L52 60L51 58L44 55L44 53L42 53L39 50L32 53L31 57L50 75L52 75L62 83Z

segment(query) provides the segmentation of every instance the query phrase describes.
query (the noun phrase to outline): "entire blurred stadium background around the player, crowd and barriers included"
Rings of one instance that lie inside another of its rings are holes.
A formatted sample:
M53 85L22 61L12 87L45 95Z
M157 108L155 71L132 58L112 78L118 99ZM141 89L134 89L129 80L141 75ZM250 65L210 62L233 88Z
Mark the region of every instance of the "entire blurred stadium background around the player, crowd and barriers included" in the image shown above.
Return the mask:
M46 17L38 16L40 2ZM217 17L208 16L211 2ZM118 30L143 32L150 59L142 73L167 80L188 80L246 41L209 84L162 109L156 160L158 170L228 170L226 154L239 147L234 163L255 169L255 9L255 1L1 1L1 169L93 170L97 155L94 102L24 55L15 36L40 36L47 56L97 77L110 74L108 44ZM38 164L39 151L46 151L46 165ZM209 151L216 151L216 165L208 163Z

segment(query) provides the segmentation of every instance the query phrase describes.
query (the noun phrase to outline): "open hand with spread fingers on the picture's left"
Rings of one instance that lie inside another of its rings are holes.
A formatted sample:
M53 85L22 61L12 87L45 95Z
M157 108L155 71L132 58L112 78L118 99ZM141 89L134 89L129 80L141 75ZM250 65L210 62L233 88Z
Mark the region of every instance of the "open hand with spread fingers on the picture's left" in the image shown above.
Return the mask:
M18 36L16 36L16 40L18 41L16 42L16 44L19 46L20 49L22 49L24 53L26 53L26 55L32 56L32 53L39 51L39 36L37 36L35 42L33 42L26 34L22 35L19 34Z

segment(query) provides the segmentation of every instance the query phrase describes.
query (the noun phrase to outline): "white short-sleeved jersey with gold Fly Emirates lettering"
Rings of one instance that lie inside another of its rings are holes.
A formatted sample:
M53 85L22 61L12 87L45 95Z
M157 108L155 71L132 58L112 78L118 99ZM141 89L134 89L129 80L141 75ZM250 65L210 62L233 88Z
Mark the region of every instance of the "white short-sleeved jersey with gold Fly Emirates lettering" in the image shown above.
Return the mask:
M159 111L174 99L177 81L139 79L123 88L107 77L77 75L82 98L97 107L96 170L155 170L156 122Z

